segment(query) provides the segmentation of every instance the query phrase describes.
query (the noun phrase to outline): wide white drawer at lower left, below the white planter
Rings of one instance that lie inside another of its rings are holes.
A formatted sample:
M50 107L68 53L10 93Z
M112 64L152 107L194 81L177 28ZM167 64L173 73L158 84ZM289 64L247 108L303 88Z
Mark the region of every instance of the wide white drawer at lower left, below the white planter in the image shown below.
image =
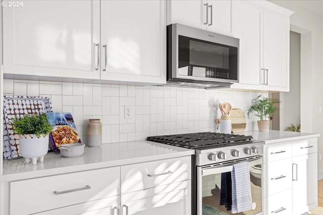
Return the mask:
M120 167L113 167L11 182L10 214L35 213L118 195L119 177Z

